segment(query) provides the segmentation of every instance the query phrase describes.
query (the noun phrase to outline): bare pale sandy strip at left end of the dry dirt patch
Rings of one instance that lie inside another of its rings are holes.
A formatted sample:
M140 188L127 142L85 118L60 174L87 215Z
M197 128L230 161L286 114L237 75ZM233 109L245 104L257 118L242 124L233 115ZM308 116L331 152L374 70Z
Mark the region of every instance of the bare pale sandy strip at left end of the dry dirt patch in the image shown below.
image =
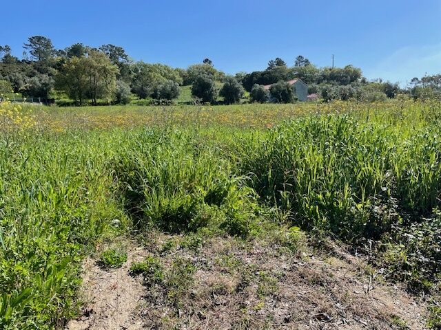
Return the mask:
M127 262L118 269L103 269L94 259L83 263L82 314L71 320L67 330L138 330L143 322L137 314L145 289L139 278L132 278L132 261L145 256L141 248L127 247Z

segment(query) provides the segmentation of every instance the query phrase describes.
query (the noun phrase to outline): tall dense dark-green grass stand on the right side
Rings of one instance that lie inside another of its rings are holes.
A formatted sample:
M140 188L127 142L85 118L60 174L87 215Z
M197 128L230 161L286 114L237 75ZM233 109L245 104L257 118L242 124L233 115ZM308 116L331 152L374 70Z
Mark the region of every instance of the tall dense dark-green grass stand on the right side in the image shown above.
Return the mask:
M347 240L378 238L409 213L438 206L441 140L433 125L403 139L383 123L311 116L278 127L257 145L238 142L240 167L254 173L261 198L295 212L303 228Z

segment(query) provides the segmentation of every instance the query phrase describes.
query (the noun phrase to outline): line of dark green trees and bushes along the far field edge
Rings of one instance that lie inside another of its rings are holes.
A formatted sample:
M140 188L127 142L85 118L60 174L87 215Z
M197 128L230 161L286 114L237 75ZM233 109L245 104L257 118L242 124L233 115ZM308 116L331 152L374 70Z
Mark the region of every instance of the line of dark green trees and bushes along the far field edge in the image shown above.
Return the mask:
M411 87L381 79L367 81L360 68L316 67L308 58L297 56L289 66L283 59L269 61L263 71L238 72L227 76L209 58L187 69L160 63L132 61L123 47L106 44L90 47L76 43L55 49L45 36L31 36L23 44L21 59L8 45L0 45L0 93L14 91L43 99L67 97L76 104L116 102L126 104L134 94L140 99L173 100L180 86L191 85L192 96L214 103L239 102L245 91L252 102L294 102L293 87L287 80L302 79L309 86L309 99L385 100L407 93L414 98L440 96L441 75L413 78ZM269 90L264 85L271 85Z

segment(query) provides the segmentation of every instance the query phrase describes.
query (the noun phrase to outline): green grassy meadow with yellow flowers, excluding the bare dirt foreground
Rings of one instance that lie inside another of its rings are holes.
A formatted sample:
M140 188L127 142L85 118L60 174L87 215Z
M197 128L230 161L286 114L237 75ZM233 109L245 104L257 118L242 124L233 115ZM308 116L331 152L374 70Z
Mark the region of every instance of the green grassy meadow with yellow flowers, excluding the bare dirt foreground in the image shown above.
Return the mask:
M369 242L371 265L429 297L441 327L439 102L3 102L0 121L1 329L62 329L106 239L268 228Z

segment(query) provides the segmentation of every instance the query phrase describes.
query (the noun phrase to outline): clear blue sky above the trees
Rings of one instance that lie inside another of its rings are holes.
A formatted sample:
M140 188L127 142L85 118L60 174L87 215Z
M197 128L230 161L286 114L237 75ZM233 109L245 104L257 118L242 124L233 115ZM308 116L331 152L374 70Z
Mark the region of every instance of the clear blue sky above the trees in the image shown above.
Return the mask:
M0 44L21 57L28 36L55 47L121 45L134 60L187 67L212 59L229 74L289 65L361 67L403 85L441 72L440 0L2 1Z

